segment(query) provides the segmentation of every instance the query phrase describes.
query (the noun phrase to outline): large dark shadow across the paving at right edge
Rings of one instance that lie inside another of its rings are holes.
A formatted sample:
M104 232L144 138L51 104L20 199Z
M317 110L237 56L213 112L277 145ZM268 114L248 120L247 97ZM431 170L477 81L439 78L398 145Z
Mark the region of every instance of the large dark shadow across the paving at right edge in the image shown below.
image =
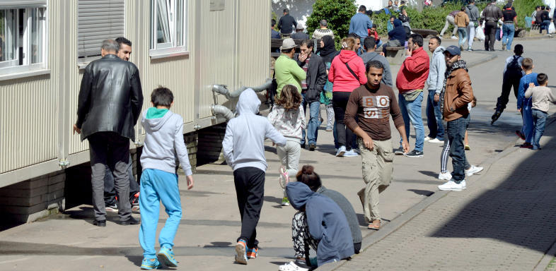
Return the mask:
M554 131L554 127L547 127L545 136L547 132L554 136ZM544 144L541 141L541 147L543 150L516 150L511 154L530 155L518 167L498 164L498 169L506 167L511 171L509 177L481 195L473 196L473 201L431 236L497 239L541 253L548 251L556 240L556 138Z

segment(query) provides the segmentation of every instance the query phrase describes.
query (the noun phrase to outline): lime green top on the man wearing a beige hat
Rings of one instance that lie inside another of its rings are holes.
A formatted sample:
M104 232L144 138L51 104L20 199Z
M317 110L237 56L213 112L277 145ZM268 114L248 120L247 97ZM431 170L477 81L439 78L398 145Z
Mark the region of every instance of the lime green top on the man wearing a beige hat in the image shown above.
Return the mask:
M278 84L277 97L280 97L284 85L295 85L301 93L301 81L306 77L305 71L297 64L297 61L282 54L274 63L274 78Z

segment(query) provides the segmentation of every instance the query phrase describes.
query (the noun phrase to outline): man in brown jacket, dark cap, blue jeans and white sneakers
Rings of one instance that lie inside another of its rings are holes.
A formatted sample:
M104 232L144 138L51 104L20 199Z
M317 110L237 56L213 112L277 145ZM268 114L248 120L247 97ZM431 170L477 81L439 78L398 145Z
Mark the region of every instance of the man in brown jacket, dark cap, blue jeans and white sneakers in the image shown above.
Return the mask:
M446 83L441 92L442 115L446 124L446 135L450 142L452 157L452 179L439 186L440 190L462 191L465 184L465 131L469 126L468 103L473 101L473 88L461 51L456 46L444 50L446 60Z

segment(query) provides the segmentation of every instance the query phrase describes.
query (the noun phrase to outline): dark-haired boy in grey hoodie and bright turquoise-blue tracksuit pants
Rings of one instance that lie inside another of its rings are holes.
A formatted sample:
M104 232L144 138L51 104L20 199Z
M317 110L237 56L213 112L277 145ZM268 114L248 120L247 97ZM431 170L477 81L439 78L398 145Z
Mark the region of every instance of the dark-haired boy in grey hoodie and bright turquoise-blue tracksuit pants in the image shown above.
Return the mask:
M178 261L172 250L174 237L182 218L180 190L178 188L179 160L187 180L187 189L193 188L193 176L187 147L183 141L183 119L169 109L174 104L174 95L168 88L159 87L151 94L151 104L143 114L141 125L145 128L145 145L141 154L141 228L139 243L143 248L141 269L151 270L161 267L156 256L170 267L177 267ZM156 225L160 202L166 208L168 219L158 236L160 251L155 254Z

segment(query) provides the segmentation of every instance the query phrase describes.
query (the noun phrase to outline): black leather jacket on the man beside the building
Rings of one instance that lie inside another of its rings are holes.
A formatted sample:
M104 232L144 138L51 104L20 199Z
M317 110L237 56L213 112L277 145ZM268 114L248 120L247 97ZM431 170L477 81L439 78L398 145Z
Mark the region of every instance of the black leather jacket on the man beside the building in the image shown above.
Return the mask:
M139 70L115 54L87 65L81 80L77 105L77 128L81 140L96 132L115 132L135 140L143 92Z

